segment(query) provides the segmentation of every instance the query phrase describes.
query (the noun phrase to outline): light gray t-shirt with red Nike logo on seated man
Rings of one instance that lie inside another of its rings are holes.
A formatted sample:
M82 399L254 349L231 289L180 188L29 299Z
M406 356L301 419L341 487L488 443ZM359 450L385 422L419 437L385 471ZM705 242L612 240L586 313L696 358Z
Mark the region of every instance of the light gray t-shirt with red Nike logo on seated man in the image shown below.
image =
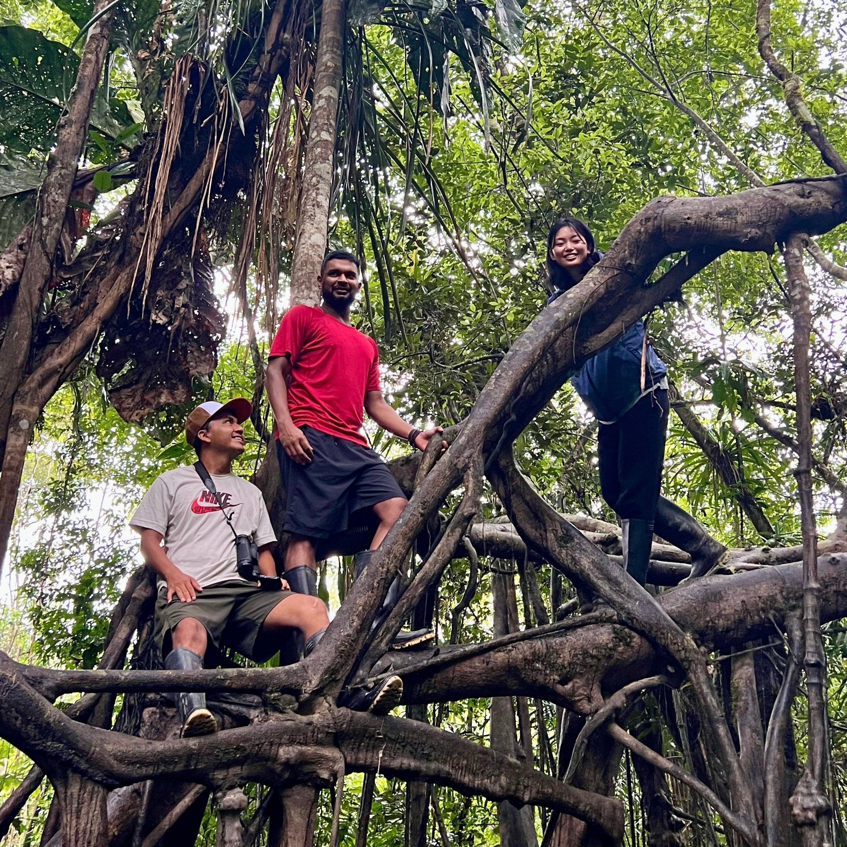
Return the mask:
M251 535L259 547L274 542L276 536L262 492L235 473L211 476L235 532ZM197 579L201 588L241 579L235 568L235 535L193 465L159 476L144 495L130 526L139 532L155 529L163 534L170 561Z

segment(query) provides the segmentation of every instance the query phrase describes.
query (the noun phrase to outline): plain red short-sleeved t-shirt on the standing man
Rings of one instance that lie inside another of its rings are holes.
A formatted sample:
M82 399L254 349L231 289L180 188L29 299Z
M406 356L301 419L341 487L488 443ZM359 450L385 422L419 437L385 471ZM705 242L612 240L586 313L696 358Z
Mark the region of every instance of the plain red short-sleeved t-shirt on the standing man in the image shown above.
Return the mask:
M379 391L376 341L323 309L295 306L280 322L268 358L291 360L288 411L310 426L368 446L362 431L366 391Z

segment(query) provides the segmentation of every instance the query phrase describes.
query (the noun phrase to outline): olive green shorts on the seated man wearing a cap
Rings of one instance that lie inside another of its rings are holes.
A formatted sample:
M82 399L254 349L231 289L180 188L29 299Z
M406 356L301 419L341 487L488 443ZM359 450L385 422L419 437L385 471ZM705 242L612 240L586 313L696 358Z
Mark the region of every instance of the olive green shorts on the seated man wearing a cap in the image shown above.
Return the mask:
M156 597L156 624L153 629L162 656L171 649L170 632L184 617L193 617L206 628L209 640L219 650L232 647L253 662L267 662L285 639L296 630L281 629L269 637L259 630L268 613L291 596L291 591L263 591L241 579L208 585L197 592L197 600L184 603L174 595L167 601L162 585Z

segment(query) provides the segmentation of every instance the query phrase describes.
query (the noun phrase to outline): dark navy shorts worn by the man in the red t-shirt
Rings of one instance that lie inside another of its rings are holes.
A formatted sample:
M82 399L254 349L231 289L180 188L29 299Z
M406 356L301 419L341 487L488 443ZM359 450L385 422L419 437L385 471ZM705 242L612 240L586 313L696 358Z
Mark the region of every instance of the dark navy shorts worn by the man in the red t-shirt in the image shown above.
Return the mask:
M314 457L297 464L276 442L285 485L285 532L325 539L343 532L353 512L405 496L388 466L369 447L302 426Z

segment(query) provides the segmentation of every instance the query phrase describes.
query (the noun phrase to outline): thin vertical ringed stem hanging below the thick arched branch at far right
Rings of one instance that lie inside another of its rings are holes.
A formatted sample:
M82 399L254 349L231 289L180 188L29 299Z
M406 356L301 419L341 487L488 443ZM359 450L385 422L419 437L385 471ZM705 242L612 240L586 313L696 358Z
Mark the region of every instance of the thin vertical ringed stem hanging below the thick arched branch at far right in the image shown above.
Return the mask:
M785 250L791 313L794 318L794 387L797 394L797 490L803 530L803 628L805 681L809 698L805 772L791 797L794 823L806 847L829 844L831 808L824 785L828 776L827 664L821 637L821 584L817 576L817 525L811 490L811 385L809 336L811 289L803 268L804 235L792 235Z

